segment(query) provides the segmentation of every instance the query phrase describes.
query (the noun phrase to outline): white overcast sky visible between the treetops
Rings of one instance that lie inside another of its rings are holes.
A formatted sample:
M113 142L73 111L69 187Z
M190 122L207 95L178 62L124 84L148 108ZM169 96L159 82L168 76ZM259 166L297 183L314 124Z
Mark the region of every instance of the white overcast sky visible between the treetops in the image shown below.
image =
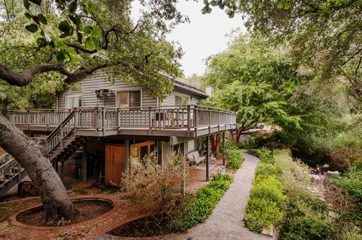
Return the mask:
M134 1L132 4L132 16L138 19L139 3ZM233 29L239 28L243 33L246 32L244 23L240 16L230 19L223 10L212 8L212 13L201 14L203 1L180 1L178 9L188 15L190 23L176 26L167 40L180 42L184 51L181 60L184 76L191 74L202 75L205 72L205 58L226 49L228 44L227 33Z

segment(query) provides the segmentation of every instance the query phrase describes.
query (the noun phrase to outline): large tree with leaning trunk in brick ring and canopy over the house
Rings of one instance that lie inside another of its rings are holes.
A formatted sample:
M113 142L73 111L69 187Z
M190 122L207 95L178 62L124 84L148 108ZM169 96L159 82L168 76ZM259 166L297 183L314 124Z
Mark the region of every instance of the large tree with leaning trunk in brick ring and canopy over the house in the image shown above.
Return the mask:
M187 20L176 2L141 1L145 10L134 23L129 17L132 1L24 0L19 6L19 1L5 0L0 8L0 79L24 87L34 78L50 75L66 83L102 70L110 81L141 83L163 98L172 89L168 77L181 74L182 51L164 39L173 26ZM0 146L38 188L47 223L74 216L47 151L1 114Z

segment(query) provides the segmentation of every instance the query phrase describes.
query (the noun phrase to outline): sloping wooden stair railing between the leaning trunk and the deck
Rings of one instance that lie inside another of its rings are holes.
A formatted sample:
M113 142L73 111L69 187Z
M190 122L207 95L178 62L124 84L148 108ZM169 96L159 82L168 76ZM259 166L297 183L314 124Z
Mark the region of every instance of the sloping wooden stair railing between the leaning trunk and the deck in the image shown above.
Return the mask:
M74 110L61 122L61 124L54 129L54 131L45 139L45 147L48 154L52 152L57 146L63 148L63 140L68 137L75 129L75 115Z

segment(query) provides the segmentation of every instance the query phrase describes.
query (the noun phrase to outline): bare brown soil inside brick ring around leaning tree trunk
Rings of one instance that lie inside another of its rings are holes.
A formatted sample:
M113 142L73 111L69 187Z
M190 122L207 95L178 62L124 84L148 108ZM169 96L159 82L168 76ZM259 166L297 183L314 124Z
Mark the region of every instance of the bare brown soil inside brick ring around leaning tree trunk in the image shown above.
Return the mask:
M114 207L111 201L103 199L73 200L73 203L74 207L77 209L77 214L70 224L82 223L92 218L96 218L97 216L109 212ZM45 211L42 206L34 207L17 214L16 219L25 225L42 226L42 221L45 219ZM54 223L53 226L56 225L57 223Z

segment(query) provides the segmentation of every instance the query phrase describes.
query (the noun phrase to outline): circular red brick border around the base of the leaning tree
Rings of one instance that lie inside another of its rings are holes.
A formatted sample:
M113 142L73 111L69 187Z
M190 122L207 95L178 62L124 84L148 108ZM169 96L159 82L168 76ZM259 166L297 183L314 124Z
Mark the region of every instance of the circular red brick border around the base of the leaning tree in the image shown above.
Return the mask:
M105 212L104 214L97 216L95 218L91 218L87 221L83 221L81 223L74 223L74 224L70 224L70 225L64 225L64 226L36 226L36 225L26 225L24 223L20 223L19 221L17 221L18 216L21 216L22 214L26 214L28 212L33 212L36 211L38 209L42 208L41 204L36 204L36 205L32 205L30 207L27 207L26 209L22 209L22 212L18 212L16 214L13 214L12 216L10 216L9 221L10 223L12 223L12 225L15 225L19 228L22 229L29 229L29 230L62 230L62 229L67 229L67 228L77 228L83 225L91 225L93 222L100 220L101 218L107 218L107 216L109 216L110 214L113 214L114 212L117 211L117 209L120 207L120 204L118 203L118 201L114 198L112 198L111 196L90 196L90 197L79 197L79 198L71 198L71 200L73 202L77 202L77 201L82 201L82 200L100 200L100 201L105 201L107 203L110 203L111 205L113 205L113 208L111 210L109 210L108 212Z

